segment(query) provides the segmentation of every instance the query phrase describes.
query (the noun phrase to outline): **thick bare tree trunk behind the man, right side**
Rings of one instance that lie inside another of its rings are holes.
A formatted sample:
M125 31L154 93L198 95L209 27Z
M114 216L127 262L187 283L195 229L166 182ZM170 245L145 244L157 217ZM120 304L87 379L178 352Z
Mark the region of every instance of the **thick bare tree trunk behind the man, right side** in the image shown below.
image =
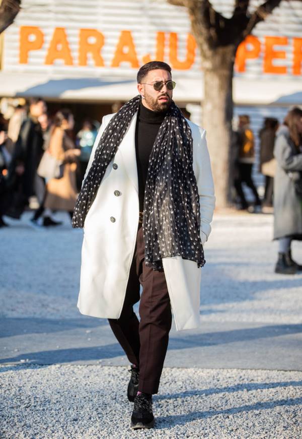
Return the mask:
M235 46L218 48L204 61L202 126L206 129L215 185L216 207L227 207L231 189L233 68ZM209 58L208 58L209 59Z

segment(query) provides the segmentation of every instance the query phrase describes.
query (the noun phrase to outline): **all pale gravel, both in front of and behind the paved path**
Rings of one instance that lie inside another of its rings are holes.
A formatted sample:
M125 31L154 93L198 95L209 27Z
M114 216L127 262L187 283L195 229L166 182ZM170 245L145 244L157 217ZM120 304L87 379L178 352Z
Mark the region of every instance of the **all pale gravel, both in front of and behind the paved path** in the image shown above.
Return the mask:
M6 249L0 255L1 315L20 321L77 318L82 231L72 230L63 214L57 218L64 225L49 230L32 229L29 218L8 219L11 227L0 230ZM302 323L302 274L274 274L272 220L215 216L202 269L203 322L217 328L223 322ZM294 243L293 256L302 262L300 243ZM300 348L297 342L294 349ZM156 428L135 432L125 398L128 379L123 366L0 366L0 437L302 438L302 372L164 368L154 398Z

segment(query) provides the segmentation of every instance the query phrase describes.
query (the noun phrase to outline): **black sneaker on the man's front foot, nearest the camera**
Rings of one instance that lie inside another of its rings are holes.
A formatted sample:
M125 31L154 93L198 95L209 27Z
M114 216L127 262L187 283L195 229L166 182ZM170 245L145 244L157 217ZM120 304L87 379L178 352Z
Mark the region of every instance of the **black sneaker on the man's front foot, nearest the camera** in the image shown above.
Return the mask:
M152 395L139 393L134 398L134 408L131 416L130 427L133 429L152 428L154 427L154 423Z

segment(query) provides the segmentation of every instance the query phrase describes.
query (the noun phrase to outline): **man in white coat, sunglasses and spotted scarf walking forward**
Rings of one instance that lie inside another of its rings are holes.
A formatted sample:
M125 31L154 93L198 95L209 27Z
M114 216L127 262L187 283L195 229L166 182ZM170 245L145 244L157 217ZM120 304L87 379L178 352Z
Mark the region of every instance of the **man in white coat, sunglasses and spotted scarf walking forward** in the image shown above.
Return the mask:
M170 66L148 62L137 83L139 95L103 118L73 227L85 226L78 307L109 319L131 363L131 427L150 428L171 306L177 330L199 325L214 190L205 132L173 102Z

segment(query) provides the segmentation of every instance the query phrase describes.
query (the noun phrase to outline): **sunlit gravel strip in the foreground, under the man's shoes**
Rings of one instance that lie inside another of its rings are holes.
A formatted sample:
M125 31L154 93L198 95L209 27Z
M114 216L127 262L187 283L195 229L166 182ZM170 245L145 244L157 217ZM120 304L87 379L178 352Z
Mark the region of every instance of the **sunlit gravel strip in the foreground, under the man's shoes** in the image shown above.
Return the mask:
M6 439L299 439L302 372L165 368L156 427L132 431L126 367L3 366Z

